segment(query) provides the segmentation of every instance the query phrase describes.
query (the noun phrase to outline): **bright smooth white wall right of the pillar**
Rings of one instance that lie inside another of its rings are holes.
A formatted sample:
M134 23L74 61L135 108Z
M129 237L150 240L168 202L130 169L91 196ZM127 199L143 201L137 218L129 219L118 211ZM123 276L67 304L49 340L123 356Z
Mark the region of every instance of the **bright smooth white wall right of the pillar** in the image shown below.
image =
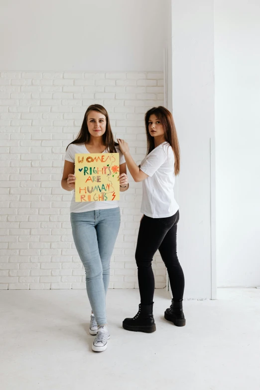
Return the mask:
M217 281L260 285L260 2L215 0Z

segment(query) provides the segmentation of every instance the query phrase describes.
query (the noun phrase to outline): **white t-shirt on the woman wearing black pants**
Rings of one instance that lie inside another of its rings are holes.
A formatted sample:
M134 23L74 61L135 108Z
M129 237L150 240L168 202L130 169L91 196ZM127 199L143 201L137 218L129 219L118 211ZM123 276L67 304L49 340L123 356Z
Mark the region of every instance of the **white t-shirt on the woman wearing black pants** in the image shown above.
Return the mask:
M151 218L174 215L179 206L174 199L174 153L168 142L155 147L141 162L148 175L142 181L141 213Z

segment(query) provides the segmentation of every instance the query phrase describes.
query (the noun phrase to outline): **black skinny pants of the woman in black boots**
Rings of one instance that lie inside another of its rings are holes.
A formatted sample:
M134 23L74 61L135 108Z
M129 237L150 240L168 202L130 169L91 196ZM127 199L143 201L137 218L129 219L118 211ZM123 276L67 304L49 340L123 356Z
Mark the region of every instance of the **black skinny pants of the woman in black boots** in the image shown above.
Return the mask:
M179 211L167 218L150 218L144 215L140 222L135 260L142 305L153 302L154 275L151 262L157 249L169 274L173 300L183 298L184 274L176 252L178 221Z

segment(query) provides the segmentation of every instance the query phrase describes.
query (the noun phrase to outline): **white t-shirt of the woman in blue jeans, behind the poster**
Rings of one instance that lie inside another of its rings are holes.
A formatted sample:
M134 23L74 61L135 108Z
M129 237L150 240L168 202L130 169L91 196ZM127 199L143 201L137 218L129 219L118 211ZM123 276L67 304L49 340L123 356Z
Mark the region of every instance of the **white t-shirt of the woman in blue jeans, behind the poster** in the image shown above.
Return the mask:
M121 153L119 146L116 146L116 150L119 153L119 164L126 162L124 155ZM84 143L74 144L71 143L65 154L65 160L75 163L75 153L89 153ZM104 153L108 153L107 150ZM98 201L98 202L75 202L75 190L73 191L73 197L70 204L71 213L84 213L85 211L103 210L103 209L115 209L119 207L118 201Z

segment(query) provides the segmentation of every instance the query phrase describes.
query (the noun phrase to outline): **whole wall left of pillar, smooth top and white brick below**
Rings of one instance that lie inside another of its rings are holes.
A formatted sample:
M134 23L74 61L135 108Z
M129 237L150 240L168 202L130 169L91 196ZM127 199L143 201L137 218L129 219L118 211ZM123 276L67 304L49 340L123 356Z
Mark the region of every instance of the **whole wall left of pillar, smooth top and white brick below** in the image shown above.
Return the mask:
M100 103L136 162L145 155L144 113L163 105L170 0L11 0L1 6L0 32L0 288L85 288L71 194L60 187L65 148L87 106ZM130 182L112 288L138 287L141 183ZM165 267L154 260L162 288Z

